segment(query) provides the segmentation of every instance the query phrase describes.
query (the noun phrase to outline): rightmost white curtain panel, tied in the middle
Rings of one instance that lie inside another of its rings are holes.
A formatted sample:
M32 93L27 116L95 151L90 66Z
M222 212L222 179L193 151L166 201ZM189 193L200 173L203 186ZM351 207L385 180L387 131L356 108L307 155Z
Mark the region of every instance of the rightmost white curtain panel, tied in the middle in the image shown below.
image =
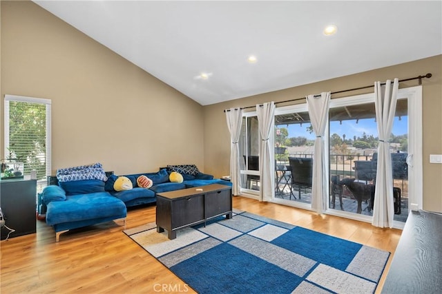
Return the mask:
M398 87L398 78L394 78L393 85L391 80L387 80L385 86L381 86L381 82L374 83L374 95L376 99L374 105L376 107L379 144L372 224L381 228L393 227L392 156L390 154L390 143L388 140L390 140L390 134L392 134Z

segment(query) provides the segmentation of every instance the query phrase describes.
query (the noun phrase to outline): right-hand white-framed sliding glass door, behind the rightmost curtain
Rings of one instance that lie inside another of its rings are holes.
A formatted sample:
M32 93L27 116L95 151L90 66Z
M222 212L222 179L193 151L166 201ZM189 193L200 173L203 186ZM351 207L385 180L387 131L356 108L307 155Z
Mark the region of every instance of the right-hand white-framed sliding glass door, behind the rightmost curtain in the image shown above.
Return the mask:
M421 168L416 167L421 166L420 101L420 88L399 90L390 136L394 220L398 222L407 220L410 201L417 206L421 204L421 186L417 183ZM336 99L330 103L328 200L332 213L338 211L339 215L351 218L371 219L378 140L372 94Z

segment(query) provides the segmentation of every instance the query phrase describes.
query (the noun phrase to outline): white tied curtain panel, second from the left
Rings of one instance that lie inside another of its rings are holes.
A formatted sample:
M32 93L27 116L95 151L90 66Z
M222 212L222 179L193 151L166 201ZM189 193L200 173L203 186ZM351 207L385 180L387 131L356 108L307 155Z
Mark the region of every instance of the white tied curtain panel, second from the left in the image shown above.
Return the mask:
M256 105L258 128L260 131L260 201L269 201L275 193L274 163L271 160L270 136L275 119L275 103Z

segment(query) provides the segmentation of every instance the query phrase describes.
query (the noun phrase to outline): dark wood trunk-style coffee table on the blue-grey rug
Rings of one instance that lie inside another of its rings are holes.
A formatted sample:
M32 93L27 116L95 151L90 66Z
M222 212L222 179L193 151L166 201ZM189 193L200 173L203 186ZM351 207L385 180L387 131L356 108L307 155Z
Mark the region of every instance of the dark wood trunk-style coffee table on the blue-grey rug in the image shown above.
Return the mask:
M157 194L157 232L167 230L169 239L176 231L210 218L232 217L232 189L226 185L207 185Z

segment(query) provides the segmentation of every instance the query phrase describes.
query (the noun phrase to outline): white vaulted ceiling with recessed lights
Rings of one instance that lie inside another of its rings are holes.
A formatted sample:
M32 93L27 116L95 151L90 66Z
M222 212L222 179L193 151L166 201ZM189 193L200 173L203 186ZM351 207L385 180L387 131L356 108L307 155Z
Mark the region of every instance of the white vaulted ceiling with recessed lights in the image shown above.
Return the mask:
M34 2L201 105L442 54L441 1Z

